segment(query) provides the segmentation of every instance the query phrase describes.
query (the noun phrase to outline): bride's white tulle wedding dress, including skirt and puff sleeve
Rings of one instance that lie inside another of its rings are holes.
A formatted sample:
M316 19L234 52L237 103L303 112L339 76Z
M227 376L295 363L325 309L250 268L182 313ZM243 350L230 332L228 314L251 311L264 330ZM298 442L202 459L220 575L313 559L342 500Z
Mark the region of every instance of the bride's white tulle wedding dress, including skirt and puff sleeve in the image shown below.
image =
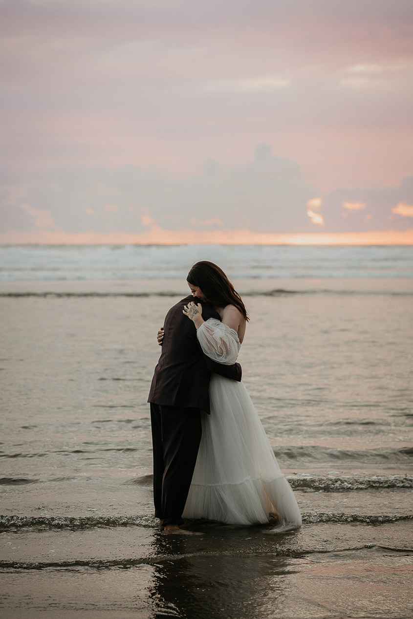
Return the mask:
M237 331L210 318L197 333L208 357L235 363L241 346ZM248 525L264 524L277 514L280 530L300 527L292 488L244 384L212 374L209 397L211 415L202 415L201 445L183 517Z

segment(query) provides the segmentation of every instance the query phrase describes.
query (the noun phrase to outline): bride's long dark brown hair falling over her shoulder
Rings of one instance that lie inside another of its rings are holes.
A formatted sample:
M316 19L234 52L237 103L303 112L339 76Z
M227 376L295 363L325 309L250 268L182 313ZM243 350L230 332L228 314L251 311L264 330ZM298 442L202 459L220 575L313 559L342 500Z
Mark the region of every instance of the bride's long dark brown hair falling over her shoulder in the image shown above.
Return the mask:
M245 305L237 290L233 287L227 275L214 262L196 262L186 278L188 284L198 286L204 293L206 300L216 308L226 305L235 305L246 321L250 317L246 313Z

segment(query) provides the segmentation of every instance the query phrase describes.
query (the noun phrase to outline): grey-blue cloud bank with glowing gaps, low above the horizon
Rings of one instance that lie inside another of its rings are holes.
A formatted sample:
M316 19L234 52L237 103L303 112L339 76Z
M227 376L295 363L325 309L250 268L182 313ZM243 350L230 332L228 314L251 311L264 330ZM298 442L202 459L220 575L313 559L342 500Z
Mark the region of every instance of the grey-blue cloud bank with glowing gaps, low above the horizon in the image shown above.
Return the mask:
M308 235L320 227L330 234L406 232L412 228L411 204L413 176L393 188L320 194L303 180L297 163L259 144L246 165L210 160L184 178L134 166L53 168L30 181L4 175L0 238L21 232L147 238L151 232L150 238L158 233L163 242L173 242L185 231L186 242L198 243L228 231L244 231L243 238L246 232Z

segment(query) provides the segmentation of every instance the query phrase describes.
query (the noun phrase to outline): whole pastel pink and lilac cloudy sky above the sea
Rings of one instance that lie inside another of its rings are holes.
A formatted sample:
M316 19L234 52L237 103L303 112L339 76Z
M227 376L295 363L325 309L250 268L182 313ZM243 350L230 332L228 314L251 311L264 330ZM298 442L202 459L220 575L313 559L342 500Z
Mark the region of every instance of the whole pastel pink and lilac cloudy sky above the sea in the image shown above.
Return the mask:
M0 243L413 243L410 0L0 0Z

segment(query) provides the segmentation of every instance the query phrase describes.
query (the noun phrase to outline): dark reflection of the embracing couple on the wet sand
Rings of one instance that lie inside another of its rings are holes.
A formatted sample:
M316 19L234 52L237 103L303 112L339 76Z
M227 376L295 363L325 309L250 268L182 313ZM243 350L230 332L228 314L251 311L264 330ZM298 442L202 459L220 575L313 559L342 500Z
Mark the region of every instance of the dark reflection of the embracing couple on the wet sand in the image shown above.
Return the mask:
M244 535L248 537L248 532L244 531ZM194 554L191 540L178 536L156 536L152 547L163 555L154 564L153 583L148 590L154 619L261 618L268 595L272 604L284 597L288 588L286 577L293 573L290 558L245 555L240 548L225 554L222 547L219 553Z

